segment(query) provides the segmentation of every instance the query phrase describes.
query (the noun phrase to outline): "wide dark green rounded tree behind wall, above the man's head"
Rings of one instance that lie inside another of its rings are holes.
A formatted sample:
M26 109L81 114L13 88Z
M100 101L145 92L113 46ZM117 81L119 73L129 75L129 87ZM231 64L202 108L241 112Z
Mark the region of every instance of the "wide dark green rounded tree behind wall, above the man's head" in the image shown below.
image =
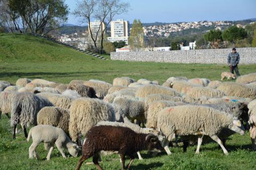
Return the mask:
M231 26L225 29L222 33L222 39L229 42L236 42L239 39L244 39L247 37L247 32L244 28L238 28L236 26Z

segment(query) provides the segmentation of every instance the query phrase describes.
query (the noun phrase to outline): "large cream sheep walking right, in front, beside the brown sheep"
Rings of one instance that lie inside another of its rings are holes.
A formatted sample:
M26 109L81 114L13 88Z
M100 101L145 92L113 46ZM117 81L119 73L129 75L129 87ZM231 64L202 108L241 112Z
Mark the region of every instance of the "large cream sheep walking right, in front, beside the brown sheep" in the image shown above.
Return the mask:
M161 129L168 141L173 134L187 137L189 135L198 136L196 153L202 144L203 135L210 136L228 155L228 151L223 146L217 136L223 128L229 128L241 135L245 134L243 125L235 117L225 112L204 106L175 106L163 109L157 119L157 128ZM171 154L166 142L165 150Z

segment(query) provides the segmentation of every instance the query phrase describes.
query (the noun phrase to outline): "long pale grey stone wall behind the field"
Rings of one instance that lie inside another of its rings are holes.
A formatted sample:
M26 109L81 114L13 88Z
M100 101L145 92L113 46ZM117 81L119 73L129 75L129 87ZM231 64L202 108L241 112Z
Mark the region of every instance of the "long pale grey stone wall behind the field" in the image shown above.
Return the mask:
M231 48L189 51L113 52L111 60L226 64ZM256 63L256 48L237 48L241 64Z

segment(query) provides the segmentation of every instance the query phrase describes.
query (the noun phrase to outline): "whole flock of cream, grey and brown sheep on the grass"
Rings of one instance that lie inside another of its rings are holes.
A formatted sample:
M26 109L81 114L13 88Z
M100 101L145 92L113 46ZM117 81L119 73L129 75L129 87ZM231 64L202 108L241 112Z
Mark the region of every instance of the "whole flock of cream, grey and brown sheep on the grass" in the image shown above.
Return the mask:
M256 73L239 76L236 82L206 78L170 77L163 85L147 79L135 82L118 77L113 84L101 80L72 80L69 84L44 79L20 78L16 85L0 81L0 116L9 117L13 139L21 124L29 147L29 158L38 158L36 147L43 142L50 159L54 144L76 157L98 161L100 151L117 151L131 158L140 150L171 154L169 145L212 139L227 155L225 142L232 134L250 131L252 149L256 136ZM9 115L11 114L11 115ZM1 117L0 117L1 118ZM27 127L34 125L27 134ZM145 127L146 126L146 127ZM82 140L84 138L84 140Z

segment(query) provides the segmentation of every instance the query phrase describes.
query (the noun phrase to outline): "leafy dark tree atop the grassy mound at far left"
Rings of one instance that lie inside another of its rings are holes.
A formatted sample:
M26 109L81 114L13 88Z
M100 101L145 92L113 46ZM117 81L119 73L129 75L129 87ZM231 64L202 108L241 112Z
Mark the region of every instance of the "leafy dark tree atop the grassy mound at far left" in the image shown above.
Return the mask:
M20 33L45 35L68 19L63 0L9 0L8 7L7 15Z

